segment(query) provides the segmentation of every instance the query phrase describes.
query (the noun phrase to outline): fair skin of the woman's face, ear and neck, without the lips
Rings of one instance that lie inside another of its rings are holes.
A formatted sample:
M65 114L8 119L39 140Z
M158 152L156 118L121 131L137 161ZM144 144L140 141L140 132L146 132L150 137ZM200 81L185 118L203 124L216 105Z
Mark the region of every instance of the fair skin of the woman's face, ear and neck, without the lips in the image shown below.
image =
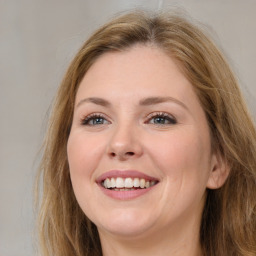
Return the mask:
M151 97L171 99L140 104ZM221 186L226 172L192 85L162 50L136 45L93 64L76 95L67 152L77 201L96 224L105 256L201 255L206 188ZM158 184L122 200L96 183L109 170L131 169Z

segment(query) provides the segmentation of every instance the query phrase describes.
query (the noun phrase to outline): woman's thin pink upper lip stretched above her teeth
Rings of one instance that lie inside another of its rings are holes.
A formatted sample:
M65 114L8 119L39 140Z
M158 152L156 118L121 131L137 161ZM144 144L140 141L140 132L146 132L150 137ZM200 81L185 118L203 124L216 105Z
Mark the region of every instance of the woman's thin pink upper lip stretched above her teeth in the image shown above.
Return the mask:
M157 178L149 176L145 173L136 171L136 170L110 170L108 172L103 173L97 179L97 183L102 183L107 178L140 178L149 181L158 181Z

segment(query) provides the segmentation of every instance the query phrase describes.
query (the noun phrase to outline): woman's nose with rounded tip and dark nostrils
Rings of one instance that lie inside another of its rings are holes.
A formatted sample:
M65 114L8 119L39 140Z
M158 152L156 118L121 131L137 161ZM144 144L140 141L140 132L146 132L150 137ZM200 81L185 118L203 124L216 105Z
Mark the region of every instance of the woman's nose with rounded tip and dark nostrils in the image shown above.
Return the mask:
M143 150L138 130L129 125L118 125L112 131L107 153L110 158L120 161L140 157Z

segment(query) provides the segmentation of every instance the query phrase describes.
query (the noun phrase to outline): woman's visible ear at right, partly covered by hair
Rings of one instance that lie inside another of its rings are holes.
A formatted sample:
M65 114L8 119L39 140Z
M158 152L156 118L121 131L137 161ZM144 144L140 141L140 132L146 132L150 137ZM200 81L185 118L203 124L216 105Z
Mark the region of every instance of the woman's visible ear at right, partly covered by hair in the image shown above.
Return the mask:
M218 189L228 178L230 167L220 153L213 154L211 163L211 173L207 182L207 188Z

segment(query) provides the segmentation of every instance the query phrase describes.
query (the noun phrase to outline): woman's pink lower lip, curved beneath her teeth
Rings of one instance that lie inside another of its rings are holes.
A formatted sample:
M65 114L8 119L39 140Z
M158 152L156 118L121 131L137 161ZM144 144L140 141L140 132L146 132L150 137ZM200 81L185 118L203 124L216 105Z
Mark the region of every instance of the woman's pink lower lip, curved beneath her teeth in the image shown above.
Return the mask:
M103 193L113 199L118 200L131 200L135 199L137 197L140 197L149 191L151 191L156 185L149 187L149 188L143 188L143 189L135 189L135 190L129 190L129 191L115 191L111 189L106 189L102 187L100 184L98 184L100 189L103 191Z

